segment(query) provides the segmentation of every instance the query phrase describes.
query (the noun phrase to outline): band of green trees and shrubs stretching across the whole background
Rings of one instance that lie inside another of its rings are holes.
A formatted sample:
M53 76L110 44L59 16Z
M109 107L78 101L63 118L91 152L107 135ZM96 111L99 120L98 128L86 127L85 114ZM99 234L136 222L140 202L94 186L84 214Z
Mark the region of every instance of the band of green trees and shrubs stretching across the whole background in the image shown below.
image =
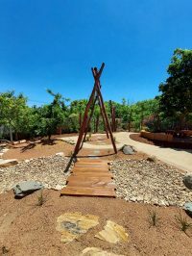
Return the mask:
M159 86L161 95L155 99L134 104L126 98L121 103L111 102L115 109L117 130L158 132L177 127L192 129L192 50L175 50L168 74L167 80ZM67 105L69 99L63 98L60 93L47 92L53 96L53 101L41 107L29 107L27 98L22 94L15 95L14 91L0 92L0 126L10 131L11 140L12 134L14 139L19 135L51 138L60 126L65 133L79 131L87 100L74 100ZM105 106L111 121L109 102L105 102ZM100 107L96 105L88 132L104 130Z

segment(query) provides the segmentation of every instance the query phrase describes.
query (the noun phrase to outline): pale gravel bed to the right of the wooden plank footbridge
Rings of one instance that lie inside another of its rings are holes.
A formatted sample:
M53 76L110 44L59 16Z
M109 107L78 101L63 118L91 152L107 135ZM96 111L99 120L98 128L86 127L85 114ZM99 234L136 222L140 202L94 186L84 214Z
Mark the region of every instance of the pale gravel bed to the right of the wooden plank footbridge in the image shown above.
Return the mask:
M111 162L117 197L159 206L183 206L192 200L192 191L182 183L177 168L147 160Z

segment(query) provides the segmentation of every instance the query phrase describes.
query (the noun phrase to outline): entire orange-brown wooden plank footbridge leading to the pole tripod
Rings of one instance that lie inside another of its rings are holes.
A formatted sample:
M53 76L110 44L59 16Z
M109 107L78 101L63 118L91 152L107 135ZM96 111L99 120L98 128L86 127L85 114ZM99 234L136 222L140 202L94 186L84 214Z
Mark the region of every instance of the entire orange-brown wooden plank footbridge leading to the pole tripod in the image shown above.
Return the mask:
M86 195L115 197L110 166L105 160L79 160L67 178L60 195Z

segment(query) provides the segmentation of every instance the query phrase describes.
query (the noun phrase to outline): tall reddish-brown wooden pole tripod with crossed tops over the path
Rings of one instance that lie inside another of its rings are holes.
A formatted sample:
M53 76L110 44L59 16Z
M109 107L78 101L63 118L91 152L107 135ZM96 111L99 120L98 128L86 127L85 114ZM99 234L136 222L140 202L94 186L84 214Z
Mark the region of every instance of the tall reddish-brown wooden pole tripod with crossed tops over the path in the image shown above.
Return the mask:
M101 111L101 114L103 116L103 121L104 121L105 129L106 129L107 137L108 137L108 134L109 134L110 140L111 140L112 145L113 145L114 152L115 152L115 154L117 153L117 148L116 148L116 145L115 145L115 142L114 142L114 138L112 136L111 127L110 127L110 124L109 124L109 121L108 121L108 115L107 115L107 112L106 112L103 96L102 96L102 93L101 93L100 77L102 75L102 71L104 69L104 66L105 66L105 64L102 64L99 71L98 71L97 67L91 68L95 83L94 83L93 90L90 94L89 100L87 102L87 105L86 105L86 108L85 108L85 111L84 111L84 120L83 120L81 128L80 128L80 134L79 134L79 138L78 138L78 141L76 143L76 146L75 146L74 156L76 156L78 154L78 152L80 151L80 149L82 148L82 146L84 144L86 134L87 134L87 131L88 131L88 127L89 127L89 124L90 124L90 121L91 121L91 118L92 118L92 115L93 115L93 112L94 112L94 107L95 107L95 104L96 104L97 101L99 103L100 111ZM89 110L90 110L90 115L88 115Z

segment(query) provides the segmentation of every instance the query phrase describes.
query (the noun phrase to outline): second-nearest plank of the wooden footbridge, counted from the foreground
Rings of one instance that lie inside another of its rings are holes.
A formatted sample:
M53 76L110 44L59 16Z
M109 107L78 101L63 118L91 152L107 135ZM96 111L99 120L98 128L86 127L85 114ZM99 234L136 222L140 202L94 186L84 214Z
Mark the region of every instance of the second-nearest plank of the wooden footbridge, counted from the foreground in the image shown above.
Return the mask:
M84 187L84 188L97 187L97 188L113 188L113 189L115 189L115 185L112 184L111 181L112 180L110 180L110 182L91 181L91 180L82 181L82 180L75 179L75 180L71 180L67 183L67 188L70 188L70 187Z

